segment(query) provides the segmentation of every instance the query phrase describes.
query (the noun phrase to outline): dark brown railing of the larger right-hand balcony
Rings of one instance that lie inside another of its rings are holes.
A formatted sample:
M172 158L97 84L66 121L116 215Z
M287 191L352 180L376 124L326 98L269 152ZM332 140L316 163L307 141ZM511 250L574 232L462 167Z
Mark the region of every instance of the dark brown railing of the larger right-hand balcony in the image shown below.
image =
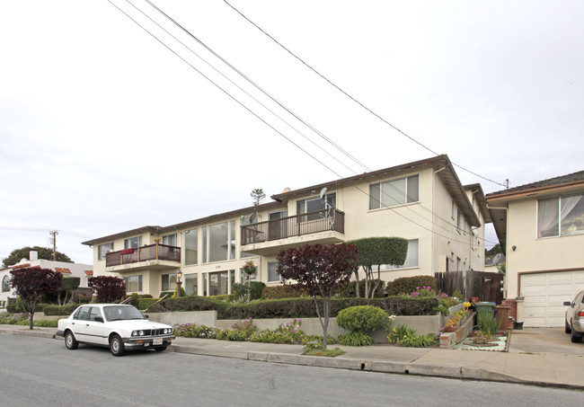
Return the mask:
M242 245L328 231L345 233L344 212L331 208L242 226Z

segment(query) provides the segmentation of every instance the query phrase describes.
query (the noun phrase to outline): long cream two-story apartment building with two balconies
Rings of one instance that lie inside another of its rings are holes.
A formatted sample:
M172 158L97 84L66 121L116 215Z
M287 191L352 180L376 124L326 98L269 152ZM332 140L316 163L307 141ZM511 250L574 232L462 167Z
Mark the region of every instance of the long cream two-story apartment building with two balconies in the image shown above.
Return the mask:
M314 243L373 236L408 239L403 265L384 265L382 279L482 270L484 222L490 213L480 185L464 187L447 155L299 190L273 201L173 226L144 226L84 244L93 246L95 276L126 280L128 292L158 296L176 287L181 269L187 294L231 292L244 280L245 261L257 280L278 285L276 255Z

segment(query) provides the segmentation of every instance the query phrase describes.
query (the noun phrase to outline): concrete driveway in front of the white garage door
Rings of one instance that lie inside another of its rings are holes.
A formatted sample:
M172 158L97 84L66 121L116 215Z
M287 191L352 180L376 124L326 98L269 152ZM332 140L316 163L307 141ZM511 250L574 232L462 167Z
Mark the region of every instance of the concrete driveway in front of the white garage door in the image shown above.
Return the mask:
M584 343L571 343L563 328L513 330L509 353L559 353L584 356Z

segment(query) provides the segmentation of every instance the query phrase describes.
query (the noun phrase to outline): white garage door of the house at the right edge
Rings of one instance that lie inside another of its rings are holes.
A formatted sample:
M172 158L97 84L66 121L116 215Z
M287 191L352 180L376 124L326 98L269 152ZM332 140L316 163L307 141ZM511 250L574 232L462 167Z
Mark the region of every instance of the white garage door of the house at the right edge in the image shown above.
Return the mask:
M524 274L520 285L524 326L563 326L562 304L584 289L584 270Z

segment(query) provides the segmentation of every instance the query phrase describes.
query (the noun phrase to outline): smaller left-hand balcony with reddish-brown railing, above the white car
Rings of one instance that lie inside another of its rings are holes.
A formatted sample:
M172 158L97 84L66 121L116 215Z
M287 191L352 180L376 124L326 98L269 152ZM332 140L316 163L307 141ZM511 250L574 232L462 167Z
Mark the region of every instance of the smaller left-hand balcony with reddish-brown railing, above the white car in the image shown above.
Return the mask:
M166 244L148 244L134 249L109 252L105 255L105 270L164 270L181 265L181 248Z

